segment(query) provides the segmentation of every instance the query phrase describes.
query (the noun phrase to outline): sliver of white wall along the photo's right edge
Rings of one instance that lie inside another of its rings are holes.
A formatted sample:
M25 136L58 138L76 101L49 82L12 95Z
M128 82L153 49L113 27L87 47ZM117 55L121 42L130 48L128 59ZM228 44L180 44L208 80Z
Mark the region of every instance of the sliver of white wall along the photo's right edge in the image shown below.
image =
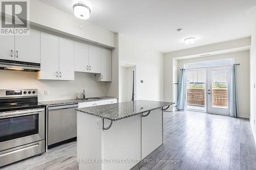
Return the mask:
M256 10L255 10L256 11ZM256 12L255 12L256 14ZM255 17L254 14L254 17ZM252 31L252 36L251 36L251 50L250 50L250 93L251 93L251 98L250 98L250 123L251 123L251 128L252 132L254 135L254 139L256 142L256 89L255 89L255 83L256 83L256 22L255 26Z

